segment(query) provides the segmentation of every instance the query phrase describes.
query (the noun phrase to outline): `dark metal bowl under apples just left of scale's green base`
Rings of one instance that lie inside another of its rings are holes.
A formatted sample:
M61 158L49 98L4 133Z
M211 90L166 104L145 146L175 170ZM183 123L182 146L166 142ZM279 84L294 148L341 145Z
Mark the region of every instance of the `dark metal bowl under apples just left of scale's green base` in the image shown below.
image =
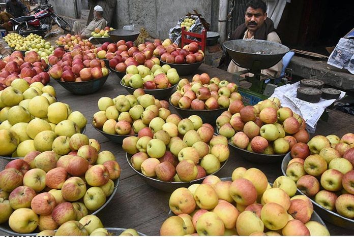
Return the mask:
M216 110L186 110L178 108L172 105L171 100L169 99L170 105L177 111L179 115L183 118L188 118L191 115L198 115L202 120L203 123L210 123L215 125L216 119L227 110L227 108L220 108Z

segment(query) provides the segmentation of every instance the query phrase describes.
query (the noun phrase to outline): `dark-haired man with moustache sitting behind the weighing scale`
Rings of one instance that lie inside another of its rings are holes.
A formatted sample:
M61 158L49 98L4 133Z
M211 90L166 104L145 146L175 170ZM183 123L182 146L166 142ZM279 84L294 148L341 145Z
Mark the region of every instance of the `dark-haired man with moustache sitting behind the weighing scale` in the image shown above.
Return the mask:
M246 5L245 23L240 25L231 35L230 40L255 39L267 40L281 44L280 38L275 31L273 21L267 17L267 5L262 0L251 0ZM280 76L283 67L282 60L269 69L261 70L261 74L272 78ZM227 72L235 73L243 71L232 60L227 67Z

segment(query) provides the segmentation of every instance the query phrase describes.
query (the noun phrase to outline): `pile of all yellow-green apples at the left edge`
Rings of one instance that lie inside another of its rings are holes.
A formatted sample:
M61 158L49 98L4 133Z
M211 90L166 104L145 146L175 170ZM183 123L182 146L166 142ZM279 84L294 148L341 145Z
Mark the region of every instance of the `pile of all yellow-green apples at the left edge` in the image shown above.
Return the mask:
M70 138L86 125L79 111L72 112L68 104L56 102L53 87L34 83L27 88L23 79L18 80L13 81L14 87L0 91L1 156L50 151L56 138Z

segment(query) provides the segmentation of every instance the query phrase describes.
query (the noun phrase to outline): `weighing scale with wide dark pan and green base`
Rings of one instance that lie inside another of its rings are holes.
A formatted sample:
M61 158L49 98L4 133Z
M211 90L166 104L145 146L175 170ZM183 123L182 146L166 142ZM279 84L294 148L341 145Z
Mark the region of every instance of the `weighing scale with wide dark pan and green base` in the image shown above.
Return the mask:
M231 40L223 44L232 61L246 70L233 73L232 80L239 86L240 82L251 83L249 89L240 88L239 93L248 105L255 105L273 94L274 89L281 85L276 78L262 75L262 69L277 64L289 52L289 48L278 43L264 40ZM241 75L252 73L253 77L240 78Z

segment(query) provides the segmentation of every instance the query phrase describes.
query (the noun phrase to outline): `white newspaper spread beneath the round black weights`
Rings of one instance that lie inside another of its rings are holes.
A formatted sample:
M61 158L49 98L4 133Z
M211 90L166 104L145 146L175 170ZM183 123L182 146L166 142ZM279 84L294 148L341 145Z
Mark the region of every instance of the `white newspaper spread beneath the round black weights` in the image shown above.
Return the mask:
M308 131L314 133L317 122L325 109L332 105L334 101L343 98L345 92L341 91L338 99L321 98L318 103L309 103L296 97L299 87L300 82L279 86L275 88L274 93L270 97L279 98L282 107L289 107L294 113L303 117L306 121Z

